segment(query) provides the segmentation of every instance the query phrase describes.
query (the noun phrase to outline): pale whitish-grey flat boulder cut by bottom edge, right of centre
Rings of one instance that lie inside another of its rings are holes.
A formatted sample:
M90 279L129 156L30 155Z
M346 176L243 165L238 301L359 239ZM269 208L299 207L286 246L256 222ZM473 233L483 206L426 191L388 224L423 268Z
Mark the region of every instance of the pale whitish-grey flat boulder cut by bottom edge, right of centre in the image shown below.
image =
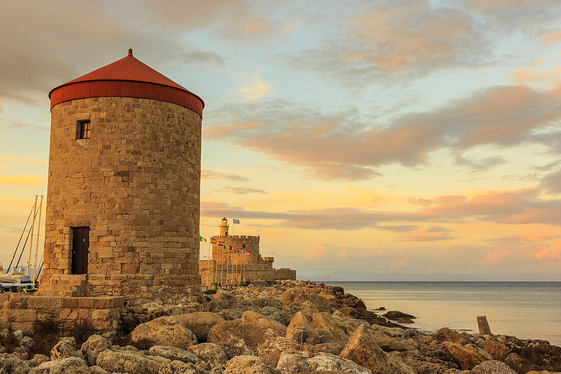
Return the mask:
M369 369L356 362L329 353L318 353L312 357L283 352L277 364L282 374L306 371L342 371L353 374L372 374Z

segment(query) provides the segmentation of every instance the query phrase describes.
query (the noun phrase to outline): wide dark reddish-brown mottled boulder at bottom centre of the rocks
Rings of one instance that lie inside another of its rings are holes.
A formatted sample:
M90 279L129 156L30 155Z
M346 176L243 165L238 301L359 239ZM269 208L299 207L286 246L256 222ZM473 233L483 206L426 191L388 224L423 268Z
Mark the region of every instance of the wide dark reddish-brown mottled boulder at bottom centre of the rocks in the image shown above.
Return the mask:
M224 321L210 329L208 343L221 346L231 359L238 355L260 356L260 350L278 337L284 338L284 334L259 323Z

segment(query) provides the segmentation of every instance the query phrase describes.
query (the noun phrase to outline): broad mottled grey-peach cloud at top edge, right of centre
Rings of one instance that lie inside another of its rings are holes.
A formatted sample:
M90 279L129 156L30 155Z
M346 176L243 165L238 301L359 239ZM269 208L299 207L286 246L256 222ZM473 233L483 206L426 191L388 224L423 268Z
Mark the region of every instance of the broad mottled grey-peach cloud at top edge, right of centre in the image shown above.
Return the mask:
M332 20L337 31L319 47L278 57L355 89L373 79L420 77L489 61L484 25L461 8L435 7L425 0L382 1L343 18L343 24L339 19Z

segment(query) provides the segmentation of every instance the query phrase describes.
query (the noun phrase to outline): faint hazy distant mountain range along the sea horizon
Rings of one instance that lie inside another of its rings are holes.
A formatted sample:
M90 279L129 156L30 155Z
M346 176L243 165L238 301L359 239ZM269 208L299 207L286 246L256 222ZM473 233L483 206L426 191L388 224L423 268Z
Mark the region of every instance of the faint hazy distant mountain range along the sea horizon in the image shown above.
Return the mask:
M356 271L335 271L325 275L298 276L298 279L318 282L343 281L434 281L434 282L561 282L561 273L556 274L449 274L449 273L361 273Z

